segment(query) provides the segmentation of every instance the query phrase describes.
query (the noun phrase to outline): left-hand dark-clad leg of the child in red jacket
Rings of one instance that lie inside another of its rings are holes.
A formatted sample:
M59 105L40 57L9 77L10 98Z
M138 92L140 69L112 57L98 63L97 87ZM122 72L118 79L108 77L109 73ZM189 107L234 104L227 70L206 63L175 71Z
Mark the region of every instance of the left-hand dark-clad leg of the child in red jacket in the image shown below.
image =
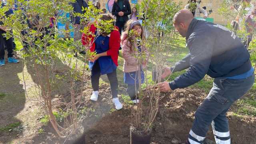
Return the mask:
M91 81L92 81L93 91L98 91L99 82L100 82L100 65L98 61L96 62L96 64L94 64L92 68Z

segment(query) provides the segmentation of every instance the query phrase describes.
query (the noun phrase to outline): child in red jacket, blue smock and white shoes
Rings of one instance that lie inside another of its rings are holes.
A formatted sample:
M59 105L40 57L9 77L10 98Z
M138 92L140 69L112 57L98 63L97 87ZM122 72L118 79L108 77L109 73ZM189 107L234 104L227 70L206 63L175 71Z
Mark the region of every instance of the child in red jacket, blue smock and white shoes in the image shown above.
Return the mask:
M113 20L111 14L101 14L100 20ZM110 88L112 92L112 101L117 110L120 110L123 106L120 103L118 93L118 80L116 74L116 68L118 66L118 50L120 47L120 33L118 28L114 26L114 29L110 33L103 32L97 33L97 29L94 25L90 26L90 32L94 33L97 37L94 40L94 36L82 34L82 44L88 45L90 43L90 51L96 52L96 56L89 61L89 68L92 72L92 96L91 100L98 100L99 93L99 80L101 74L107 74L110 81Z

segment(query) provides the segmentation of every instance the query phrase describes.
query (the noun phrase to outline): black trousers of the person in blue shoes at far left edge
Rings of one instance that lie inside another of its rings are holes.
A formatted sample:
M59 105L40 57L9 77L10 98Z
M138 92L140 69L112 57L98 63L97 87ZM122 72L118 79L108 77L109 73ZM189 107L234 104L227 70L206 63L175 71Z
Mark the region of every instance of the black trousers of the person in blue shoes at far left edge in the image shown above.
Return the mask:
M0 59L4 59L4 43L6 44L8 57L13 56L13 38L9 38L8 40L2 35L5 32L0 30Z

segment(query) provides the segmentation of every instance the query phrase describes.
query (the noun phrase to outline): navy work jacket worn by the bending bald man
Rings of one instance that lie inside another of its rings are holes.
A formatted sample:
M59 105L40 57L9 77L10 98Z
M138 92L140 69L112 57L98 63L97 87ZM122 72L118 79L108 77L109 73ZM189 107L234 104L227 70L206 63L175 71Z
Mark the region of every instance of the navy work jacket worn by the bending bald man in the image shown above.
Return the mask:
M208 74L212 78L232 77L248 72L250 54L241 40L224 26L193 19L188 28L189 54L171 68L188 70L169 83L172 90L188 87Z

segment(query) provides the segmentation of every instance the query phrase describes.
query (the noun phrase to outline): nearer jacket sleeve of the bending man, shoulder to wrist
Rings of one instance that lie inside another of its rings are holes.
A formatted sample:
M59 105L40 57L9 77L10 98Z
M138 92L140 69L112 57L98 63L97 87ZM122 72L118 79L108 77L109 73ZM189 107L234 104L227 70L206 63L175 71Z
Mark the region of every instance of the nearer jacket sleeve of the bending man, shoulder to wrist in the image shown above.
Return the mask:
M188 39L190 67L187 72L169 83L172 90L185 88L202 80L209 70L215 40L206 34L197 35L199 36L190 36Z

